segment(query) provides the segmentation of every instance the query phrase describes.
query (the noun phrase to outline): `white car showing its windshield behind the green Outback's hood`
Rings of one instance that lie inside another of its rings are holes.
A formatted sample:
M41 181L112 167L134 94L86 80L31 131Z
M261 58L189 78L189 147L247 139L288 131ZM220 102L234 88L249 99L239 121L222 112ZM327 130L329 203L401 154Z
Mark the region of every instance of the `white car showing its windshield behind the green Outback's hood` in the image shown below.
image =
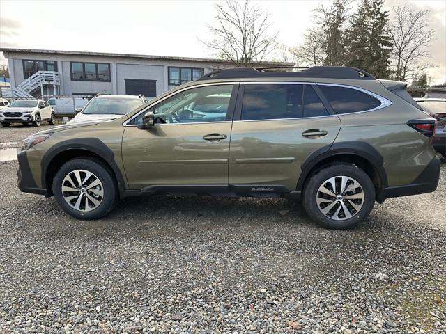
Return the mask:
M112 120L130 113L147 102L143 95L99 95L90 100L68 123ZM78 111L78 109L77 109Z

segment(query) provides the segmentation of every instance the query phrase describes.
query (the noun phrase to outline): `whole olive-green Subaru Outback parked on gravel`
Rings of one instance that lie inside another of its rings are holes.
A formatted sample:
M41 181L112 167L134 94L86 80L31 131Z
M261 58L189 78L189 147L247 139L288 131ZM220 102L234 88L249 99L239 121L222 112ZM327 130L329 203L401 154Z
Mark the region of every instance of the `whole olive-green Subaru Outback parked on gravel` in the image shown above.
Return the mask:
M26 138L18 183L82 219L168 193L302 199L348 228L375 201L436 189L434 128L406 84L353 67L220 70L121 118Z

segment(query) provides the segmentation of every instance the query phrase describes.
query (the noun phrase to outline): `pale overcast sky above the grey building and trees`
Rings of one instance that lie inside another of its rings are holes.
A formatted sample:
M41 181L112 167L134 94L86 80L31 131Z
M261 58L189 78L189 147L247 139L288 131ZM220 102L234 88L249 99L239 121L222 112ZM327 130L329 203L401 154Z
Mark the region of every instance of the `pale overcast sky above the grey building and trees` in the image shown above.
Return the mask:
M434 83L446 81L446 1L400 0L427 8L437 40L429 70ZM0 47L102 51L160 56L213 57L199 38L210 38L216 1L20 1L0 0ZM312 10L330 1L253 1L270 13L272 29L289 46L298 45L312 25ZM387 0L386 8L398 0ZM2 59L0 62L5 63Z

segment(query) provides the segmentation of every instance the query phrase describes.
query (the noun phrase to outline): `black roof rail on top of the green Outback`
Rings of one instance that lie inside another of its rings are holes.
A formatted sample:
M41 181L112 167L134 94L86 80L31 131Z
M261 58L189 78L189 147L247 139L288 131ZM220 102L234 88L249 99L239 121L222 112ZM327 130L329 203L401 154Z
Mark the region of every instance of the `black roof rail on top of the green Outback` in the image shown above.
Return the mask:
M298 68L299 72L266 71L268 68ZM376 80L370 73L355 67L346 66L313 66L313 67L235 67L217 70L203 75L198 80L206 79L235 79L235 78L328 78L328 79L361 79Z

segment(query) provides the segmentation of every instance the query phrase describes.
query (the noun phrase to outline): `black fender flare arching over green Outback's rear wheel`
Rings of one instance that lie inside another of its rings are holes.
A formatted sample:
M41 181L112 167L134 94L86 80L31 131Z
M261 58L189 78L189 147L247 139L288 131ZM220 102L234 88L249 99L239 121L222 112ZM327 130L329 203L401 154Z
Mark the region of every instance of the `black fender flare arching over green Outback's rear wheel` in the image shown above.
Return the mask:
M334 157L339 154L355 155L369 161L369 163L378 171L382 186L387 187L387 173L384 169L383 156L376 150L376 148L364 141L342 141L324 146L323 148L314 151L312 154L309 154L301 165L302 171L296 190L303 190L305 180L307 180L307 177L314 166L329 157Z

